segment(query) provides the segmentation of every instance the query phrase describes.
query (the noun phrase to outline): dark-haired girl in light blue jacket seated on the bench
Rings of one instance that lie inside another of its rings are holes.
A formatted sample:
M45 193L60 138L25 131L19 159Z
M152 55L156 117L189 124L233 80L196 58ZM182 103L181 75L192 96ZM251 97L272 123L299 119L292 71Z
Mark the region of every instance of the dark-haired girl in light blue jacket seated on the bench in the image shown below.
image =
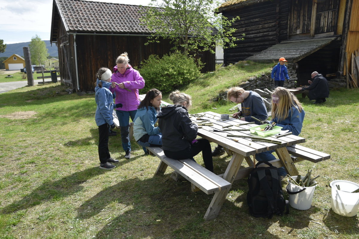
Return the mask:
M161 146L162 134L155 127L157 112L161 109L162 92L157 89L149 90L145 98L137 108L134 118L134 137L144 152L148 154L145 147Z

